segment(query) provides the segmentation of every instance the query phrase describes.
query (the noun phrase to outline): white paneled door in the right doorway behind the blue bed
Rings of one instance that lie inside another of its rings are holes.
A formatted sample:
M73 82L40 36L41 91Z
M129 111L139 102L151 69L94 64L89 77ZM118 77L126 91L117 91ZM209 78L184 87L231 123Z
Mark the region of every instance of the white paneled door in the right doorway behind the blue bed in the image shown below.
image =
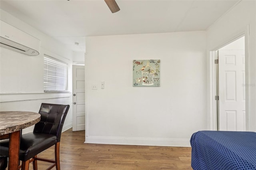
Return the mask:
M244 50L219 50L219 127L245 131Z

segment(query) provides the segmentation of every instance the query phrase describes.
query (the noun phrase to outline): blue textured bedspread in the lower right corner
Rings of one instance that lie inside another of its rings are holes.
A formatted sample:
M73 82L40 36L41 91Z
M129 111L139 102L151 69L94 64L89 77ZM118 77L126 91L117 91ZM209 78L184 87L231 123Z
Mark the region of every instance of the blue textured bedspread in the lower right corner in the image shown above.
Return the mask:
M190 144L194 170L256 170L256 132L198 131Z

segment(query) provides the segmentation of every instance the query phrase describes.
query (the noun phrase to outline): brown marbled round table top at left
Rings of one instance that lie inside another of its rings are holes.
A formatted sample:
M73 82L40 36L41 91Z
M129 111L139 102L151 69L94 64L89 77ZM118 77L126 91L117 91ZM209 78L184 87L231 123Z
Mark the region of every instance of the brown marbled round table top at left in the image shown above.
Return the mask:
M40 121L41 115L26 111L1 111L0 135L16 132Z

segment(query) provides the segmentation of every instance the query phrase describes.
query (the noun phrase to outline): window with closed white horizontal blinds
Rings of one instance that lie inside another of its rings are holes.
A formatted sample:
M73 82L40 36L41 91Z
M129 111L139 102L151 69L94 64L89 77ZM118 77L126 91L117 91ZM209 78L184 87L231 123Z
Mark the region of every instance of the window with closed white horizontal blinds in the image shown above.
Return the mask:
M67 91L68 64L44 55L44 92Z

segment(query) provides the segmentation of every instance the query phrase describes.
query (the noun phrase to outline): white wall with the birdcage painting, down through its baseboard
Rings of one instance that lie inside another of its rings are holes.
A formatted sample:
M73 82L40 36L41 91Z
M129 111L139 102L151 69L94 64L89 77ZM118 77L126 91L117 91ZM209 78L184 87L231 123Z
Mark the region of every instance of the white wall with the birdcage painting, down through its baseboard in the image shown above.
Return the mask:
M160 87L132 86L134 59L161 60ZM86 142L190 146L206 129L205 63L206 32L87 37Z

